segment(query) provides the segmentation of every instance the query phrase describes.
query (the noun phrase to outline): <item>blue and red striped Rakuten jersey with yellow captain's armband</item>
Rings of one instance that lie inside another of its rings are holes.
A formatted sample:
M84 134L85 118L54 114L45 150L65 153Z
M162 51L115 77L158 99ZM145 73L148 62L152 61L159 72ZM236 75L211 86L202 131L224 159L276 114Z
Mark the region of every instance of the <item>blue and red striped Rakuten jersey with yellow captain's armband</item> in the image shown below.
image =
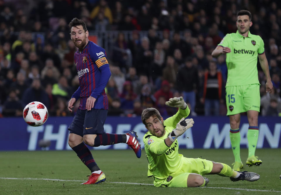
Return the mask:
M71 98L80 99L79 109L86 109L89 96L96 98L94 109L107 109L108 99L104 88L107 85L111 72L103 48L92 41L80 52L74 54L74 62L79 78L79 87Z

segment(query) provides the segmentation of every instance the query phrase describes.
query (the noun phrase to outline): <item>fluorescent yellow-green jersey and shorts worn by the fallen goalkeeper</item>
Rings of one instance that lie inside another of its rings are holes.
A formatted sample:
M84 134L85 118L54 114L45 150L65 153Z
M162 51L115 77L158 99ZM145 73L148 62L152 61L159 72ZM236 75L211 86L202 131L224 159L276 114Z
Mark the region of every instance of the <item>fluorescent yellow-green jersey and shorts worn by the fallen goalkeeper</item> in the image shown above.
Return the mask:
M189 173L205 175L211 172L213 163L205 159L185 158L179 154L179 143L175 140L169 147L165 139L169 136L181 118L190 113L188 107L179 109L177 113L167 118L163 125L165 134L158 138L149 131L145 133L143 142L148 159L148 177L154 177L154 186L159 187L187 187Z

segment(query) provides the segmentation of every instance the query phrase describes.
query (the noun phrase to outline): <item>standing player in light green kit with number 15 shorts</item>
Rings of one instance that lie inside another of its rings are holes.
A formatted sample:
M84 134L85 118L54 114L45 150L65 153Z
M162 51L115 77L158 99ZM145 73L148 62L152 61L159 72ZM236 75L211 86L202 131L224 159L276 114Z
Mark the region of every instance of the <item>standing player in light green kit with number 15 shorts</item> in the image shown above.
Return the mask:
M225 35L212 52L213 57L226 54L227 83L226 105L230 120L230 141L235 162L233 169L243 168L240 158L240 113L247 112L249 129L247 166L261 165L262 161L255 156L258 142L258 113L260 111L260 83L258 81L257 58L266 77L266 92L273 88L268 61L265 56L264 43L260 36L253 35L249 29L252 26L251 13L241 10L237 13L237 32Z

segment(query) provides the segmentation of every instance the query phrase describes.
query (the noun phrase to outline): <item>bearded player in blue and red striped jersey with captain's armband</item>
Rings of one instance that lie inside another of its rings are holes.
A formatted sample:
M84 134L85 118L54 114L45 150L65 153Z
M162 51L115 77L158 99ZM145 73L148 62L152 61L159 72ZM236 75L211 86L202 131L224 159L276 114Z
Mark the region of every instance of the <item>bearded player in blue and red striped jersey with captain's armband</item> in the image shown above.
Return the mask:
M104 122L108 112L105 86L111 72L103 48L88 40L89 32L84 21L77 18L69 23L71 40L78 48L74 62L79 78L79 87L68 102L72 112L73 104L80 98L80 105L72 123L68 127L68 144L92 174L82 184L98 184L105 181L105 175L97 166L88 147L127 143L140 158L141 147L135 131L126 134L104 132ZM84 144L85 143L85 144Z

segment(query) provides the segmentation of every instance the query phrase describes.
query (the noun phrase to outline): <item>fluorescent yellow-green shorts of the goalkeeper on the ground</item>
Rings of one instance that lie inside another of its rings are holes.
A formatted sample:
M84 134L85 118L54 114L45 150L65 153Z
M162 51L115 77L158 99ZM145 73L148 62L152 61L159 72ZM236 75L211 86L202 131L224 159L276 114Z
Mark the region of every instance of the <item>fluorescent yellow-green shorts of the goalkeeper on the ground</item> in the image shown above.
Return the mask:
M187 178L190 173L199 175L209 174L213 169L213 162L201 158L183 158L183 166L177 172L170 174L164 180L154 178L155 187L187 187Z

